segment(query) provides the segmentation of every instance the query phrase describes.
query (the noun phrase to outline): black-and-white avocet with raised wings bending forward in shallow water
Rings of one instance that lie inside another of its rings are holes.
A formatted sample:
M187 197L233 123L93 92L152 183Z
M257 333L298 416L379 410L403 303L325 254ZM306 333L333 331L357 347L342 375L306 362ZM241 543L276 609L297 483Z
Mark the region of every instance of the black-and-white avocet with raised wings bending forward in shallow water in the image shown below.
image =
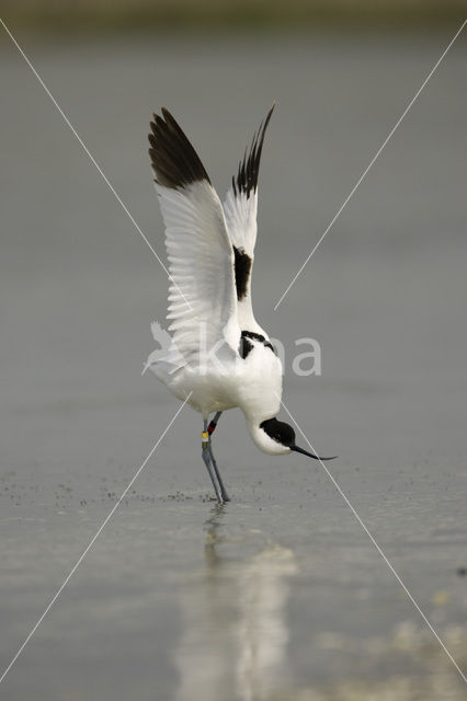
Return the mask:
M240 160L224 204L166 107L153 114L148 135L166 227L170 325L169 343L149 356L146 367L172 394L202 414L202 458L219 504L230 499L214 457L213 434L227 410L243 412L253 443L265 453L335 458L297 446L294 428L277 418L282 364L253 314L258 176L274 106ZM157 326L153 324L153 331Z

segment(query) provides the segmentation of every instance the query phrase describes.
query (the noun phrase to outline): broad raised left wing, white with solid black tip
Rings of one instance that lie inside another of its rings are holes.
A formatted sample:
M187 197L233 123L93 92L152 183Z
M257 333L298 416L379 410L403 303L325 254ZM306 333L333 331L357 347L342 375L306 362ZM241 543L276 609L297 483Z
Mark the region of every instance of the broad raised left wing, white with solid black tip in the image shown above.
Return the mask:
M223 207L196 151L172 115L153 115L149 156L166 225L167 318L173 343L190 363L200 348L239 338L234 250Z

